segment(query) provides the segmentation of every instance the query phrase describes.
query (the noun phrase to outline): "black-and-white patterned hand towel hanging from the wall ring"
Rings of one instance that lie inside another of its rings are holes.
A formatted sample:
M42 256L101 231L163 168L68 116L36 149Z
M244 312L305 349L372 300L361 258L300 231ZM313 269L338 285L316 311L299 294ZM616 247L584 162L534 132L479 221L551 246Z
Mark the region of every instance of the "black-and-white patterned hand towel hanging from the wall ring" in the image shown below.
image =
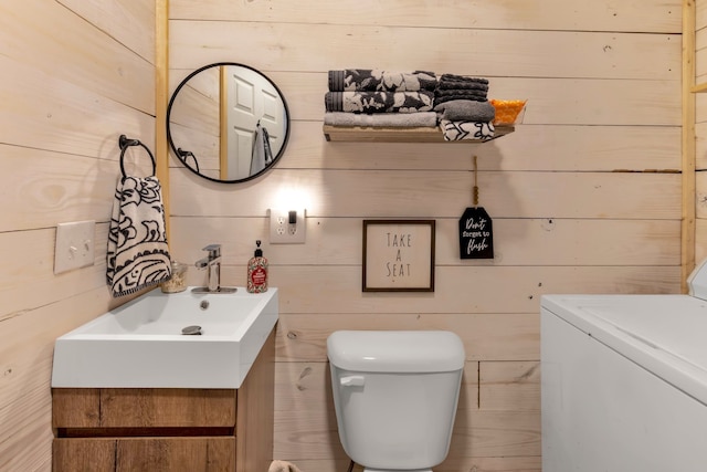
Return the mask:
M157 177L118 180L108 230L106 282L113 296L169 280L171 264Z

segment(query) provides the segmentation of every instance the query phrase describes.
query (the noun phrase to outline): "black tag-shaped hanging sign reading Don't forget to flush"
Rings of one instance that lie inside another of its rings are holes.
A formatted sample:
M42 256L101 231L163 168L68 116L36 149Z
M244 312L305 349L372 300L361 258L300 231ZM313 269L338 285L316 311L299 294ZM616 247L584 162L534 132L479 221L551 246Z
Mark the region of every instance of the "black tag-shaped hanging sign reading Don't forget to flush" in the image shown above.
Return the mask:
M478 206L476 185L476 156L474 156L474 207L460 218L460 258L494 259L494 230L490 217Z

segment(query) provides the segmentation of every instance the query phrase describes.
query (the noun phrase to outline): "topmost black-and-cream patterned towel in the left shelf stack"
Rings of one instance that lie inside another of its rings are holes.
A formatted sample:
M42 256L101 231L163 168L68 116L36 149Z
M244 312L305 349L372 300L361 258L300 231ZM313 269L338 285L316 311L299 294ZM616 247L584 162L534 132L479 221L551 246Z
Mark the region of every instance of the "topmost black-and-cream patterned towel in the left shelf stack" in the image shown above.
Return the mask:
M434 91L434 72L389 72L376 69L329 71L329 92L418 92Z

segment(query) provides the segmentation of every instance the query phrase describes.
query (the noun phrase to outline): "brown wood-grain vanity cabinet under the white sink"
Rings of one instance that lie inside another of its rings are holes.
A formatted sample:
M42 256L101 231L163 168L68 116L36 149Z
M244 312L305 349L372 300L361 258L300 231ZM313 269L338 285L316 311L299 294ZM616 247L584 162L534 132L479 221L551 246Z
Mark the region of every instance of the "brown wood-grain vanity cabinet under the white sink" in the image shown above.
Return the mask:
M55 472L266 471L275 331L239 389L52 389Z

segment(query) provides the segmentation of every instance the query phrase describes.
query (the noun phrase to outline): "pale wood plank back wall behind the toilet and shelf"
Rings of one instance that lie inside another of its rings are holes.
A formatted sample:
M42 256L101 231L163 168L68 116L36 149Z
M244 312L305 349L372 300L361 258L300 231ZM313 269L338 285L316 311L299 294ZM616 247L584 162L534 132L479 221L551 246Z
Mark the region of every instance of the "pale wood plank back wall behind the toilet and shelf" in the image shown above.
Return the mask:
M444 328L467 363L437 470L539 471L540 296L680 291L680 1L171 0L169 29L171 90L207 63L241 62L274 78L293 117L285 157L254 181L200 180L170 158L178 259L221 243L224 282L243 285L264 241L281 289L275 457L305 472L348 465L331 332ZM326 73L347 67L484 76L492 97L528 99L524 124L475 146L326 143ZM457 256L473 155L493 261ZM307 241L271 245L267 209L292 196ZM436 220L433 294L361 292L368 218Z

